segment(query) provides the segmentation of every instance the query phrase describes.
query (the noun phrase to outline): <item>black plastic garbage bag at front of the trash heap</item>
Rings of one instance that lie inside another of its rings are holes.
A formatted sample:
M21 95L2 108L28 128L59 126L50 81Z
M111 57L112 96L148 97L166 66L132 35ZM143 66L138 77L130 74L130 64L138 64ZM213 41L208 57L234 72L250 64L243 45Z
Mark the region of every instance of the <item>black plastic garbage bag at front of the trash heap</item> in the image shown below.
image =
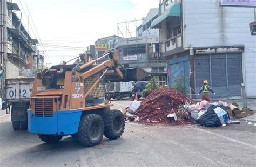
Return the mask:
M225 109L223 105L211 105L208 107L207 111L195 121L199 123L201 126L218 127L220 125L220 120L218 115L214 112L214 109L217 107Z

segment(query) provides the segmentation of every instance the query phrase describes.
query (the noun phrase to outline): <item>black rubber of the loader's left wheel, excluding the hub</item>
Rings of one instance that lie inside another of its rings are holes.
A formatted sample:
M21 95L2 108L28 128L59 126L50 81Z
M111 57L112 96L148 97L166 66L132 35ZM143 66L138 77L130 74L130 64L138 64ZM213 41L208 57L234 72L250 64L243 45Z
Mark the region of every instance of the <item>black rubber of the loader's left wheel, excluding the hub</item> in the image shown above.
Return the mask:
M100 135L96 140L90 137L90 127L93 122L97 121L99 123L100 128ZM78 133L77 133L78 141L82 145L86 146L95 146L102 141L103 134L104 134L104 122L102 117L98 114L87 114L84 115L79 124Z

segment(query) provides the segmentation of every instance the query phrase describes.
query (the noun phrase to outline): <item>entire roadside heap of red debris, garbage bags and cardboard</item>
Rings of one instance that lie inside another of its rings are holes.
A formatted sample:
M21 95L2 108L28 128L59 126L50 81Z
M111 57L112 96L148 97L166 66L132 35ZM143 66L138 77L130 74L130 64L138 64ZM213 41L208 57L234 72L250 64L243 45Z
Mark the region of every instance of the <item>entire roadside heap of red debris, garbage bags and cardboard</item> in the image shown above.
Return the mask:
M129 121L174 125L194 122L207 127L240 124L231 119L254 114L250 108L242 108L236 102L208 103L203 100L196 103L173 88L155 89L143 101L134 100L122 113Z

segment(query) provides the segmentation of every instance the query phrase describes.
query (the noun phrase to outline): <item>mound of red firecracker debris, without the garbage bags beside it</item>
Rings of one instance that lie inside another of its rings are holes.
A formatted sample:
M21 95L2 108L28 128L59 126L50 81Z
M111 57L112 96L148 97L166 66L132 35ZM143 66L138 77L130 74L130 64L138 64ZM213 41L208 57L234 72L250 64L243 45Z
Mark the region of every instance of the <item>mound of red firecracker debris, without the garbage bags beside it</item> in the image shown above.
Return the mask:
M177 113L186 102L190 105L194 103L176 89L158 88L141 102L136 115L139 116L139 122L167 123L167 115L176 113L178 118L173 124L189 124L192 122L190 116Z

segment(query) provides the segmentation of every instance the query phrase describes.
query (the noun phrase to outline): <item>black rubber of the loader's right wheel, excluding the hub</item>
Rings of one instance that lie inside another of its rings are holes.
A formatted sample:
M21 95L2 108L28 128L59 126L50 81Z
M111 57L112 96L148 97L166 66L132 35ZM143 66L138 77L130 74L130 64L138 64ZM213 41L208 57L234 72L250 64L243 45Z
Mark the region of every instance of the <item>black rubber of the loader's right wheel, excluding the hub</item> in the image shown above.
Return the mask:
M116 133L113 130L113 121L117 116L120 117L122 120L122 128L118 133ZM105 112L104 126L105 126L105 129L104 129L105 137L111 140L120 138L124 133L124 127L125 127L125 120L124 120L123 113L120 112L119 110L110 110L109 112Z

